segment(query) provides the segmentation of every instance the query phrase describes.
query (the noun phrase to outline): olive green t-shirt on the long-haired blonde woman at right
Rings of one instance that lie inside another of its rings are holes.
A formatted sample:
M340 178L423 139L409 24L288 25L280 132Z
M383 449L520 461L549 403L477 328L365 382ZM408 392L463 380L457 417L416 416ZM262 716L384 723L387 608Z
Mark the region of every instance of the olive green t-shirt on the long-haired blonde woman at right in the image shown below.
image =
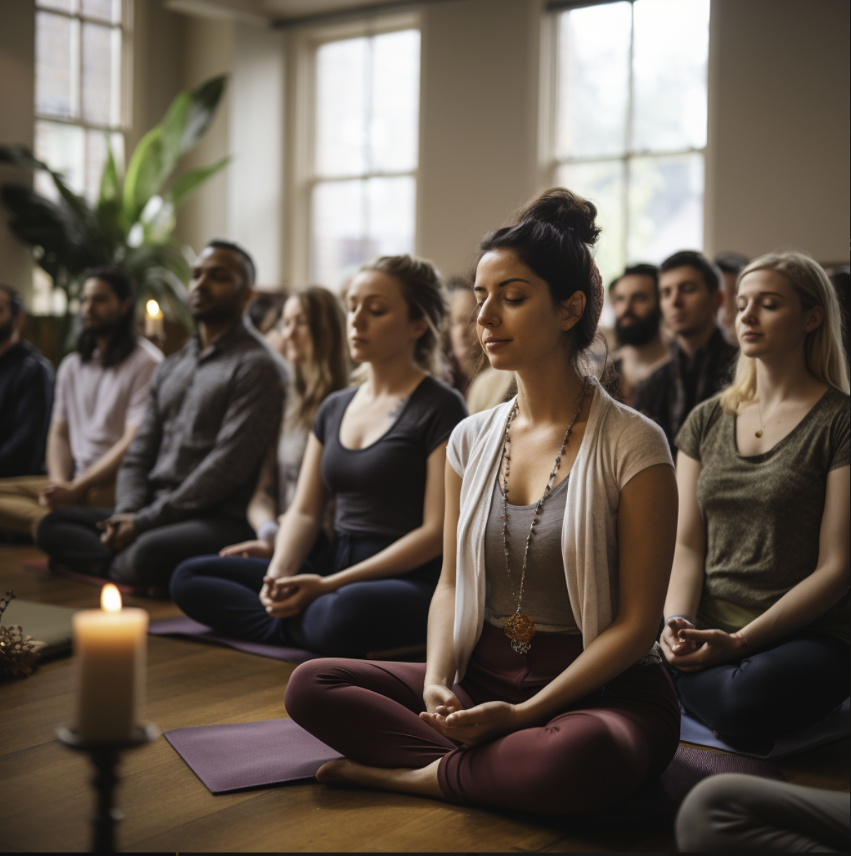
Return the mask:
M830 387L773 449L747 457L736 445L736 417L717 397L689 414L674 442L701 464L699 626L734 633L815 570L827 474L851 462L849 402ZM846 595L807 629L848 642L849 624Z

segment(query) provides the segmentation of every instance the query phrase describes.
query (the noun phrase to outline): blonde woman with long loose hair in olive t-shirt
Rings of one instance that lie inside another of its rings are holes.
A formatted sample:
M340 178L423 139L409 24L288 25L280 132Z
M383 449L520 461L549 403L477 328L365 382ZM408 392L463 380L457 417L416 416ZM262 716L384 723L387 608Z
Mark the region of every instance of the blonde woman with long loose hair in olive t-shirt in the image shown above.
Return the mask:
M676 437L662 651L686 710L735 743L848 696L848 371L836 294L802 253L741 271L734 383ZM755 742L756 741L756 742Z

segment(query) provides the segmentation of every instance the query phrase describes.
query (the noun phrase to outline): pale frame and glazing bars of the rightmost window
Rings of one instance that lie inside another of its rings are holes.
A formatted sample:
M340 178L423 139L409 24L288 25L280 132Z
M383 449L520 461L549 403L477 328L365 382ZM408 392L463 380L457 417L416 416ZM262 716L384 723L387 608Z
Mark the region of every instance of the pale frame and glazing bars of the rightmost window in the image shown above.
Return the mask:
M629 42L629 78L626 92L626 141L624 152L619 155L602 155L602 156L570 156L560 155L558 147L558 127L559 127L559 110L561 104L561 68L560 68L560 20L562 15L566 15L578 9L584 9L588 6L599 6L608 3L626 2L630 5L630 42ZM709 158L709 115L710 106L710 62L711 62L711 45L707 48L707 128L704 145L700 147L687 147L676 149L638 149L633 145L633 123L635 116L635 86L634 86L634 64L633 52L635 45L635 3L636 0L597 0L597 2L578 2L578 3L551 3L548 9L548 15L545 16L545 27L542 33L542 86L541 86L541 146L542 159L542 176L549 186L554 186L558 183L558 175L562 167L570 166L574 163L616 163L621 164L621 219L620 219L620 259L624 265L630 265L632 262L642 259L631 259L629 253L630 239L630 176L632 161L638 158L675 158L685 157L688 155L700 155L703 163L704 173L704 190L703 190L703 235L701 236L702 244L706 243L706 211L707 199L706 188L708 181L706 176L707 163ZM711 13L710 13L711 15ZM711 17L710 17L711 21ZM711 22L710 22L711 32ZM702 247L698 247L702 249ZM608 291L607 291L608 299Z

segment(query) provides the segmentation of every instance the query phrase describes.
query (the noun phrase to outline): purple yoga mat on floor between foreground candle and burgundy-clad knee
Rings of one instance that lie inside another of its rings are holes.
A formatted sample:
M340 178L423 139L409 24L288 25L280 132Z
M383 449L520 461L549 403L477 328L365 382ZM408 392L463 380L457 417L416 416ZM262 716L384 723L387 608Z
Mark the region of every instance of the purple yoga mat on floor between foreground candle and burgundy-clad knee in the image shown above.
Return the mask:
M164 736L213 794L312 779L342 757L291 719L175 728Z

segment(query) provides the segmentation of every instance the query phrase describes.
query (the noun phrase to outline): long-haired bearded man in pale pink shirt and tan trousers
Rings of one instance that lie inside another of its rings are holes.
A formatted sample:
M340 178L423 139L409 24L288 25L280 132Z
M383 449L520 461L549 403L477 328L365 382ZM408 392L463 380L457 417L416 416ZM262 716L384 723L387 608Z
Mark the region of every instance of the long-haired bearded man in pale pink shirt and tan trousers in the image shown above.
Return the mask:
M129 274L115 267L87 271L77 347L57 372L47 475L0 482L3 527L34 537L51 510L114 501L118 467L163 359L159 348L136 336L135 303Z

